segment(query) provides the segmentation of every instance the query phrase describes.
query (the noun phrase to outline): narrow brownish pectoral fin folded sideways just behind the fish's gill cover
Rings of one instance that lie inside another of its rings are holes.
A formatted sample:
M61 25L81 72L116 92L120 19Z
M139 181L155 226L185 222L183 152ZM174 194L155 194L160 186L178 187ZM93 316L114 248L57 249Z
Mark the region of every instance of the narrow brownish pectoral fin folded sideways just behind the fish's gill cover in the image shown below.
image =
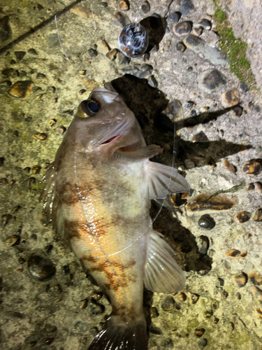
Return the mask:
M121 148L117 149L114 153L114 158L125 158L128 160L141 160L146 158L152 158L154 155L161 153L162 148L157 145L149 145L139 148L136 151L124 151Z

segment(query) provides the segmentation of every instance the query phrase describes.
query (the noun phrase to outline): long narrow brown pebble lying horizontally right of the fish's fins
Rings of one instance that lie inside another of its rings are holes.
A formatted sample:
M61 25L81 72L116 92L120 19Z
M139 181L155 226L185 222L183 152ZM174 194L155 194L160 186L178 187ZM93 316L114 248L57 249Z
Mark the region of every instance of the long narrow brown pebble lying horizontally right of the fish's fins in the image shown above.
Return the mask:
M210 195L201 194L193 198L187 203L188 211L225 211L233 208L238 204L237 197L220 193L214 197Z

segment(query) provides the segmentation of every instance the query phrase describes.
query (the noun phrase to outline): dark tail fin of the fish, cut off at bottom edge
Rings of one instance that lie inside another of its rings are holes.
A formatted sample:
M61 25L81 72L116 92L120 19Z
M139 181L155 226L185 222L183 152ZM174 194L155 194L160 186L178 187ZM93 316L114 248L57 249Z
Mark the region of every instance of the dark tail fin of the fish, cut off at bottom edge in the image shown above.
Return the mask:
M88 350L147 350L145 319L117 323L116 318L108 318Z

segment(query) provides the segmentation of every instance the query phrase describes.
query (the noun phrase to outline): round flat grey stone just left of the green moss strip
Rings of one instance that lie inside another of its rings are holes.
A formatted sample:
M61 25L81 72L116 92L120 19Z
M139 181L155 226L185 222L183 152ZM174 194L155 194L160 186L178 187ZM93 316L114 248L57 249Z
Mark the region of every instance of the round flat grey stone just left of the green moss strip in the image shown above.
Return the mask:
M226 84L226 78L217 69L208 69L201 74L198 86L205 92L218 92Z

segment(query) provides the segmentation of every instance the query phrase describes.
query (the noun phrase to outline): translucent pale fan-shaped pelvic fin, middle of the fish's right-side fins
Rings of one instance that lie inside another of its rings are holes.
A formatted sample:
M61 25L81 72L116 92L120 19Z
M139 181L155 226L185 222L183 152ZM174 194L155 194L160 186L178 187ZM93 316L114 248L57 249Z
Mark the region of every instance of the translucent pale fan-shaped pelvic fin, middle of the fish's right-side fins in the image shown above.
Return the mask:
M189 192L190 186L184 176L177 173L177 169L155 162L148 162L147 168L148 191L147 196L154 200L166 198L172 193Z

